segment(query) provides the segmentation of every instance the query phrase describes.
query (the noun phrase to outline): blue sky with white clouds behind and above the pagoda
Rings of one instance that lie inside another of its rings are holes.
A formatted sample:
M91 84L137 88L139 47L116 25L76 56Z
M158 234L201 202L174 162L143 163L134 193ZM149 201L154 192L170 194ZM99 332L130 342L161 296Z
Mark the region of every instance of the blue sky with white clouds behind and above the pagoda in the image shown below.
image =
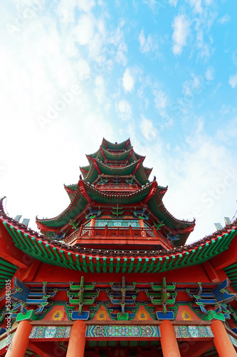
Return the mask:
M191 240L236 213L236 1L1 1L0 196L57 216L104 136L147 156ZM153 178L153 176L151 176Z

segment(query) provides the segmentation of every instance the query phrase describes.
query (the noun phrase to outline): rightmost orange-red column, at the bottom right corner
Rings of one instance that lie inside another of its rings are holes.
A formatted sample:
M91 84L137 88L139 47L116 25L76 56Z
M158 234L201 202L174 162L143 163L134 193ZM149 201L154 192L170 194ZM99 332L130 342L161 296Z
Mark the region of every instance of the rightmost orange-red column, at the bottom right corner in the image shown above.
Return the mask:
M231 339L228 337L226 328L220 320L212 321L211 330L214 333L214 345L216 346L216 351L219 357L236 357L237 353Z

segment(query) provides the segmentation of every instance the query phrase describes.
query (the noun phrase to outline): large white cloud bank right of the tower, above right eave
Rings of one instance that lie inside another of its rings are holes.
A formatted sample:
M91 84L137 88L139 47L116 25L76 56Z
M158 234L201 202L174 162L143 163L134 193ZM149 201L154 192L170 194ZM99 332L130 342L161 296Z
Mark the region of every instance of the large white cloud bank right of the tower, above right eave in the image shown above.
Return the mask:
M163 174L164 182L160 184L172 182L164 196L164 205L176 218L196 218L196 227L189 241L214 232L215 221L222 223L223 216L232 218L236 211L233 189L237 175L233 156L220 143L215 132L211 136L206 135L203 118L194 119L196 128L186 138L186 143L172 149L169 154L164 150L160 154L167 173L166 177ZM223 138L225 142L226 137ZM159 166L160 163L154 162L154 174L159 172Z

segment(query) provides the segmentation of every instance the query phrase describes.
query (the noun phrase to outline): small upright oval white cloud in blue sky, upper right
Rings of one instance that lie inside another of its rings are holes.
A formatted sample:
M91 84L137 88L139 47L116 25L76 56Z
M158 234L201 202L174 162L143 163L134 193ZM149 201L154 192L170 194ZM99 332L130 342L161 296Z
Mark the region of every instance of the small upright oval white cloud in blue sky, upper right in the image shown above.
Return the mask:
M174 41L173 53L181 54L183 47L186 46L186 39L190 34L190 21L186 18L186 15L178 15L174 18L172 24L174 33L172 39Z

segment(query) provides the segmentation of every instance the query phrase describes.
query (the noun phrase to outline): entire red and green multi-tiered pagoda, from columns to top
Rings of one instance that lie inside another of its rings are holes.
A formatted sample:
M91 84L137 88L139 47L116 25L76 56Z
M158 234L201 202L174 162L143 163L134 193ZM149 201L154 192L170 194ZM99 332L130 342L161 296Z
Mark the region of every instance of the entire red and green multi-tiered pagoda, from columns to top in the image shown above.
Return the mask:
M130 139L86 157L40 233L0 201L0 356L237 356L237 220L188 245Z

